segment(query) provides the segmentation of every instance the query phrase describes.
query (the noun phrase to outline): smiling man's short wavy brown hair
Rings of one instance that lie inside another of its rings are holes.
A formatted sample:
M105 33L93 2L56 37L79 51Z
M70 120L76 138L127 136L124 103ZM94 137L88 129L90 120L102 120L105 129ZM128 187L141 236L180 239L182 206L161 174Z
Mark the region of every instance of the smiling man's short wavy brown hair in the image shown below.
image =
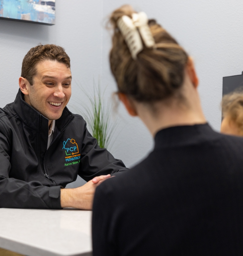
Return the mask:
M54 44L39 44L27 52L22 62L21 76L31 85L33 85L33 76L36 75L36 64L43 60L55 60L70 68L70 58L63 47Z

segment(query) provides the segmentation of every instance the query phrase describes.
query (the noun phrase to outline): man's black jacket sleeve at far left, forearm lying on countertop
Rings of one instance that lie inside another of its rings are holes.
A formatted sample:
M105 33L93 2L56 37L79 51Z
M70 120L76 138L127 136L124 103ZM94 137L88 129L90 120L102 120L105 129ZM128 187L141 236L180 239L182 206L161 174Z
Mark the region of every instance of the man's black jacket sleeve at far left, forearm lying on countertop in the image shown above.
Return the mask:
M11 147L10 132L0 120L0 208L61 209L60 186L47 187L9 177Z

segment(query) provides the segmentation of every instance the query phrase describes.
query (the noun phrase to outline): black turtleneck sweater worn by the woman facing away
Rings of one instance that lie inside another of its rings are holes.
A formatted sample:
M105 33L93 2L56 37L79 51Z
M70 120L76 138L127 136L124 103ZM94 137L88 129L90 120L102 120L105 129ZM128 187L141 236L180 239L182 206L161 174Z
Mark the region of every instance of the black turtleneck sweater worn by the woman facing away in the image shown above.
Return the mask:
M96 190L93 255L243 255L243 138L170 127Z

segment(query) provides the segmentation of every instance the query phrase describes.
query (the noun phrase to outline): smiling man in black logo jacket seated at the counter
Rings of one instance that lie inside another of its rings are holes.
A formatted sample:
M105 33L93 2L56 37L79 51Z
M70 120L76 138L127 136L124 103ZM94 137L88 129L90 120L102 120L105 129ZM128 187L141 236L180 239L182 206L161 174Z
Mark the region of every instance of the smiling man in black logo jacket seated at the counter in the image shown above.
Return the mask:
M16 99L0 110L0 207L92 209L96 186L127 170L66 107L71 82L62 47L38 45L25 55ZM78 174L87 183L63 189Z

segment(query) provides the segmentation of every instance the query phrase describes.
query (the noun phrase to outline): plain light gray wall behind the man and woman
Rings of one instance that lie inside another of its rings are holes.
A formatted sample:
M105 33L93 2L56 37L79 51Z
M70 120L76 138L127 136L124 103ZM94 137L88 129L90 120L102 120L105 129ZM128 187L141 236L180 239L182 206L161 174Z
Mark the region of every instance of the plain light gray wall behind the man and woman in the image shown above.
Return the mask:
M156 18L194 57L200 78L202 105L209 123L220 129L222 77L243 70L243 3L240 0L131 0L138 11ZM12 102L18 91L21 62L38 43L65 47L71 58L73 96L71 111L80 112L100 79L110 98L116 90L108 65L110 36L105 17L124 4L116 0L56 0L56 25L38 25L0 20L0 107ZM138 118L128 116L123 106L114 113L119 127L111 152L127 166L145 157L153 140ZM113 118L115 120L115 118ZM80 184L80 183L79 183ZM77 184L76 184L77 185Z

